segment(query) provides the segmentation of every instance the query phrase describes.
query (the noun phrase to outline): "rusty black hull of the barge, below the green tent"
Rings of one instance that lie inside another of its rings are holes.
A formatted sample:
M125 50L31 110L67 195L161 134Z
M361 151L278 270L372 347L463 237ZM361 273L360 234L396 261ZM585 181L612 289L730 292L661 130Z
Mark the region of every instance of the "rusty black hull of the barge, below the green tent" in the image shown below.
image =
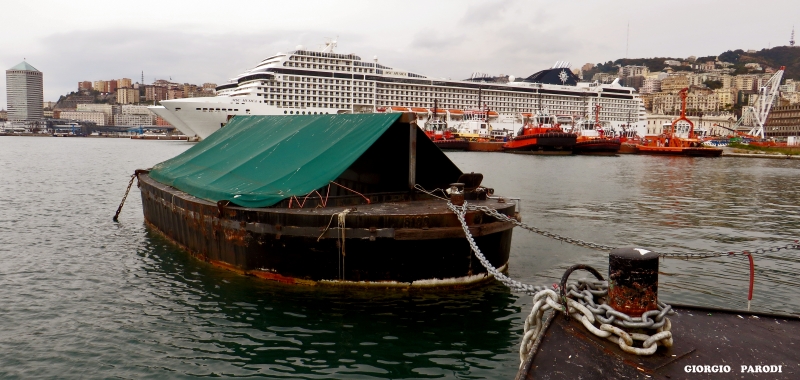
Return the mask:
M139 186L150 227L195 257L241 274L290 284L385 287L464 287L491 279L441 200L370 196L372 204L346 216L342 253L332 216L353 207L346 200L326 208L255 209L201 200L146 173ZM515 212L514 203L470 202ZM328 206L336 203L331 199ZM505 269L513 224L479 212L469 212L467 221L483 254Z

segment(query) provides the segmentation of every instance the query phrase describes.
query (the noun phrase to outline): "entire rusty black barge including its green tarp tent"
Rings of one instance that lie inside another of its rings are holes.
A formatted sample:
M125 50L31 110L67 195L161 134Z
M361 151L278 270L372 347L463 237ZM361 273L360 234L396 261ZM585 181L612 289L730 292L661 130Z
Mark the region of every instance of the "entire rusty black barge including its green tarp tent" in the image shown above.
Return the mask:
M491 198L480 174L462 173L412 120L237 116L138 172L146 223L201 260L289 284L457 288L490 280L447 197L511 217L516 204ZM453 183L449 195L442 190ZM490 262L507 268L513 224L481 212L467 220Z

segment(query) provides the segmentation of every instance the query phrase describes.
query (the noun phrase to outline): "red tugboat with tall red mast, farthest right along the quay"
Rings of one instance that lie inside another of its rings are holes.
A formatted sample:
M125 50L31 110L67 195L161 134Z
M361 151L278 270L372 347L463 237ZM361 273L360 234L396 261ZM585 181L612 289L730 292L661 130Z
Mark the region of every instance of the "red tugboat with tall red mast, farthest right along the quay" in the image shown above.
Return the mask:
M703 144L694 133L694 123L686 117L686 93L688 88L680 91L681 116L672 122L667 130L658 136L647 136L643 145L638 145L639 154L660 154L671 156L703 156L719 157L722 149L712 148ZM678 122L684 121L688 128L678 130ZM684 133L685 132L685 133Z

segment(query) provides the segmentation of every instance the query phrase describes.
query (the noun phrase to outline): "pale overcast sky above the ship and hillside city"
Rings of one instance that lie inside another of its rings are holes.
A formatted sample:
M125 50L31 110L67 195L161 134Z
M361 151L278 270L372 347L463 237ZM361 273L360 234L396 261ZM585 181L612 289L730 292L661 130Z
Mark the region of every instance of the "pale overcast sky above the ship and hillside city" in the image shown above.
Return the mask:
M276 52L316 49L423 75L528 76L626 56L688 57L787 45L800 1L87 1L4 2L0 65L44 73L44 100L79 81L223 83ZM5 75L0 108L6 108Z

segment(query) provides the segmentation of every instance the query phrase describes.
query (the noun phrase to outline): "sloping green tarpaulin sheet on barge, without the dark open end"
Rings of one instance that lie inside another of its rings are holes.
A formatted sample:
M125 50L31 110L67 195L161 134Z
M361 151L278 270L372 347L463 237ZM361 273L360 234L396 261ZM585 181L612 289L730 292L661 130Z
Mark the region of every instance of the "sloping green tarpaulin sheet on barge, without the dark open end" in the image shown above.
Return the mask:
M272 206L326 186L400 115L236 116L150 176L212 202Z

